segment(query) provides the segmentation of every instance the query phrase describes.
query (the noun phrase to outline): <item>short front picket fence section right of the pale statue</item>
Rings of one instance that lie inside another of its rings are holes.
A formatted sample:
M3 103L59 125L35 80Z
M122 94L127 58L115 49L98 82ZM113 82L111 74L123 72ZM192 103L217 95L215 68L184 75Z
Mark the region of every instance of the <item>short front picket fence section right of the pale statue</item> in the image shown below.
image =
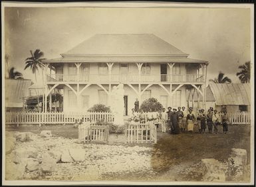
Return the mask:
M127 124L125 129L127 143L157 143L156 125L148 123Z

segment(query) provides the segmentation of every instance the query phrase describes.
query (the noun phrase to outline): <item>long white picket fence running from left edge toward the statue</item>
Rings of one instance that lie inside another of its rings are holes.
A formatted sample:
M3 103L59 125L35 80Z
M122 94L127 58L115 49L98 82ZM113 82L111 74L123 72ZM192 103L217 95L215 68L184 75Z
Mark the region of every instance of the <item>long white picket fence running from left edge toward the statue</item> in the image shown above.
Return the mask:
M114 121L114 116L109 112L86 112L86 113L64 113L64 112L6 112L5 124L71 124L76 120L83 121Z

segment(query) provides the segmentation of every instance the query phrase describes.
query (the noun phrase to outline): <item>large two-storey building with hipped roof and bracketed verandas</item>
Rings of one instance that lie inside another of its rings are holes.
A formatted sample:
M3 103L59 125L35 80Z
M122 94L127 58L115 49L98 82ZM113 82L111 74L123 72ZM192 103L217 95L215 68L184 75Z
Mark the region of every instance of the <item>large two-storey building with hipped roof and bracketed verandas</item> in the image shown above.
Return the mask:
M61 58L43 62L55 68L45 74L45 97L63 89L63 111L86 111L95 103L109 105L113 86L122 83L124 115L136 98L187 106L186 90L195 88L205 98L207 72L206 61L188 56L154 34L96 34Z

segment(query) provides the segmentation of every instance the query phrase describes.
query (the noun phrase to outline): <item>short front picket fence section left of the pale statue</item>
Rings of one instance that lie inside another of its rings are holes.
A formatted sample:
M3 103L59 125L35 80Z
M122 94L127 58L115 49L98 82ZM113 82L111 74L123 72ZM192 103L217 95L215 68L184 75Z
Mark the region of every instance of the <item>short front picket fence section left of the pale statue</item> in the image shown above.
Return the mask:
M78 139L84 143L108 143L108 125L78 125Z

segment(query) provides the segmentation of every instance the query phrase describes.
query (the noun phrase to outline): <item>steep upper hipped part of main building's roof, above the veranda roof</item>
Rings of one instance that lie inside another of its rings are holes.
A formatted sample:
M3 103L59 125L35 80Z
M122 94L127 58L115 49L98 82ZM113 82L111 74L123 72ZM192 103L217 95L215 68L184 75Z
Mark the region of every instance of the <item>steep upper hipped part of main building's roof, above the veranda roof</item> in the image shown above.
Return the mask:
M95 34L63 55L185 55L154 34Z

